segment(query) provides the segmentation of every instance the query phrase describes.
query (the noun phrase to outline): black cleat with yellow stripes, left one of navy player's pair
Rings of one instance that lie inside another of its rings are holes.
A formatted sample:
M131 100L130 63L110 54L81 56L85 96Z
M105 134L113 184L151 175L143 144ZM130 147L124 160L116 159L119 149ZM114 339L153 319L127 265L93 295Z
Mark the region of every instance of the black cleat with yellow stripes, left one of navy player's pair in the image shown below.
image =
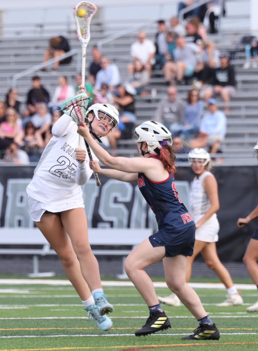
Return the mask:
M145 325L135 332L136 336L156 333L156 331L171 328L170 321L165 312L153 312L146 320Z

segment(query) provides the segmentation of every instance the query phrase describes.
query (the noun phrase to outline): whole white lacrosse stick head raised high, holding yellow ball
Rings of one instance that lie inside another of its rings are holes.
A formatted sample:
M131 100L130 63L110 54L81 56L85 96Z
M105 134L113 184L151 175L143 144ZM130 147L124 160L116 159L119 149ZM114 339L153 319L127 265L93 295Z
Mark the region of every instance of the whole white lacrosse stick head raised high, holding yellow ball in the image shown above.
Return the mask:
M96 13L97 7L91 2L79 2L74 9L78 39L87 45L90 40L90 21Z

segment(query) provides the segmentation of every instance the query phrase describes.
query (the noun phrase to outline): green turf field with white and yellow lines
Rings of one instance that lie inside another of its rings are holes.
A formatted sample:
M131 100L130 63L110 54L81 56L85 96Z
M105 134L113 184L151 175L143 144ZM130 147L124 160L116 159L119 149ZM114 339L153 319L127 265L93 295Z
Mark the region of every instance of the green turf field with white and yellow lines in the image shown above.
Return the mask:
M157 288L167 295L168 289ZM225 299L224 290L196 290L213 323L221 332L218 341L181 340L198 324L181 307L164 306L171 329L146 337L135 337L148 317L143 299L134 287L105 287L108 301L115 307L109 314L113 328L103 332L87 319L80 299L71 286L0 286L0 351L4 350L181 350L195 346L206 351L258 350L258 313L246 307L257 301L257 290L243 290L245 305L216 307ZM189 349L190 350L190 349Z

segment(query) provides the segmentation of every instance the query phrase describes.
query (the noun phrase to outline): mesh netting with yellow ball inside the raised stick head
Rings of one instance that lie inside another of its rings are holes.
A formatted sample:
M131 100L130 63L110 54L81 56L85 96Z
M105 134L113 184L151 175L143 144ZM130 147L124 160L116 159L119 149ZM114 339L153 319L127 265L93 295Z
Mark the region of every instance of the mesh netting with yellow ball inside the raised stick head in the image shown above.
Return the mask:
M81 2L74 11L74 16L80 27L82 39L88 39L90 36L89 23L95 12L96 7L90 2Z

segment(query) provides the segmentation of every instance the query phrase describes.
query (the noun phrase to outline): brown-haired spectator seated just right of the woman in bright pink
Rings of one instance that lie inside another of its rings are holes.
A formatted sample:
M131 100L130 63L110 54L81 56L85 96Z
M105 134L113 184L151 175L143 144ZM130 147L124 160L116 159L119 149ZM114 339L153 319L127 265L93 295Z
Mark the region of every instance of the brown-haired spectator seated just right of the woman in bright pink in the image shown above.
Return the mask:
M31 121L27 122L24 131L15 137L14 141L29 156L30 162L38 162L42 150L45 146L44 140L40 133L36 131Z

